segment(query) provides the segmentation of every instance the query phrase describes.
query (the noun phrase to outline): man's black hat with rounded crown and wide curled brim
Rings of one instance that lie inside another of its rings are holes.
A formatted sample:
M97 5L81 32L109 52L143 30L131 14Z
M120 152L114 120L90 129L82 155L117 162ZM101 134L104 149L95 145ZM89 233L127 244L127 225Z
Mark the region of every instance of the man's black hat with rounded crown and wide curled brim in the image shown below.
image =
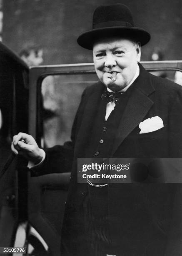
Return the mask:
M148 43L150 33L134 25L132 13L126 5L101 5L93 15L92 30L82 33L77 43L83 48L92 50L99 38L121 36L140 42L141 46Z

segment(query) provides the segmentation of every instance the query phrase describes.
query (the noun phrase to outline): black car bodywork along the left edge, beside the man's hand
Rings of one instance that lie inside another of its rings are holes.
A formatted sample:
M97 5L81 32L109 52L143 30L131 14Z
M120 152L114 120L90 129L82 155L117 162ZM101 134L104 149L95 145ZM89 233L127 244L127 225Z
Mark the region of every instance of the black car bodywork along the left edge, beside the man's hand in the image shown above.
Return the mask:
M10 149L18 131L28 132L28 67L0 43L0 247L13 246L17 226L27 220L27 174Z

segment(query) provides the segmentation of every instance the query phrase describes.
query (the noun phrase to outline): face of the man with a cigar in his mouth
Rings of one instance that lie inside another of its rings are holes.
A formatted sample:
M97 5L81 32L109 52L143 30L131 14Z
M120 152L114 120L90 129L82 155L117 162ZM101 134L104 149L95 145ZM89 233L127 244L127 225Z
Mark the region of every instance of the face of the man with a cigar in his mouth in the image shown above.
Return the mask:
M140 45L123 38L103 39L93 47L97 76L106 87L115 92L131 82L140 56ZM112 72L117 72L115 81L111 79Z

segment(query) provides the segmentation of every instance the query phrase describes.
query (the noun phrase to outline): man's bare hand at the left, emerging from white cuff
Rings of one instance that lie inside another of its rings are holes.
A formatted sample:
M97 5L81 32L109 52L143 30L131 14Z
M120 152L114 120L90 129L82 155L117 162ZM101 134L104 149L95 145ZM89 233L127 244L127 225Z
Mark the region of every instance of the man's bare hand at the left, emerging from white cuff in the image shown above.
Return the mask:
M16 155L24 156L34 164L40 163L43 158L42 150L38 147L35 139L27 133L18 133L13 136L11 149Z

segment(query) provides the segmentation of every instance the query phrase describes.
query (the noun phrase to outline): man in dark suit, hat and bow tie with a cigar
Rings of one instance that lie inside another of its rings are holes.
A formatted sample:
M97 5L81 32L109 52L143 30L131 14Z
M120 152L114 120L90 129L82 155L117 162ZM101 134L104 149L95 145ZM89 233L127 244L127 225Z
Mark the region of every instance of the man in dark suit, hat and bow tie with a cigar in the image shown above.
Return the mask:
M170 250L177 185L77 183L78 158L182 156L182 89L139 63L140 46L149 40L125 5L98 7L93 29L77 41L93 50L100 82L82 94L72 141L45 154L31 136L13 138L12 150L25 156L29 166L35 164L34 176L65 172L72 165L62 255L164 256ZM175 241L180 244L180 236Z

